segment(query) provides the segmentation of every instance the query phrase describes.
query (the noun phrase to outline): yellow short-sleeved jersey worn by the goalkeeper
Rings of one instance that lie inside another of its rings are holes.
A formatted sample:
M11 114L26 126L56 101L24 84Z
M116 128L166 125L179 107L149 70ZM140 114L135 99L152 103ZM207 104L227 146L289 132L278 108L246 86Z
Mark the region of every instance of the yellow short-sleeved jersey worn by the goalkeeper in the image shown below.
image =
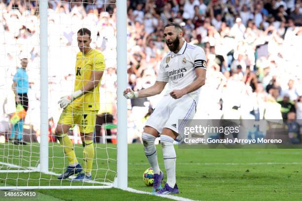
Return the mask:
M98 50L91 49L88 53L83 54L78 52L76 54L76 80L75 80L75 91L82 89L82 87L90 80L93 76L94 70L104 71L105 70L105 59L104 55ZM100 109L100 92L99 87L96 86L92 91L80 96L71 103L71 106L80 110L99 110Z

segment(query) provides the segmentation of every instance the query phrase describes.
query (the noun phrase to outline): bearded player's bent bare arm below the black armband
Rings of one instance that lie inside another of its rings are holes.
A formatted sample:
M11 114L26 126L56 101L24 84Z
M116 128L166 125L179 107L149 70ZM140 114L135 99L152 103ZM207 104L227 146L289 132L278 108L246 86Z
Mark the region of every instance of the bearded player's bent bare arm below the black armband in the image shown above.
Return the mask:
M185 94L189 94L193 91L196 91L200 87L202 87L205 84L205 78L206 78L206 70L204 68L196 68L195 69L197 78L194 82L189 84L187 87L180 89L180 90L173 90L170 93L170 96L173 99L179 99Z

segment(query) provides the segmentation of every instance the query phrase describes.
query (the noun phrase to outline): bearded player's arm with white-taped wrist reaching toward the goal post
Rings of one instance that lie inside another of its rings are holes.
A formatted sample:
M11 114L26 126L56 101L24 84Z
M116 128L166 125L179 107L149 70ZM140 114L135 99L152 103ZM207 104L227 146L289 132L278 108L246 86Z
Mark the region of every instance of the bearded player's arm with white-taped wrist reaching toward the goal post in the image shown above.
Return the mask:
M126 99L136 99L155 96L162 92L166 84L167 82L156 81L151 87L137 92L134 92L132 89L128 88L124 91L124 97Z

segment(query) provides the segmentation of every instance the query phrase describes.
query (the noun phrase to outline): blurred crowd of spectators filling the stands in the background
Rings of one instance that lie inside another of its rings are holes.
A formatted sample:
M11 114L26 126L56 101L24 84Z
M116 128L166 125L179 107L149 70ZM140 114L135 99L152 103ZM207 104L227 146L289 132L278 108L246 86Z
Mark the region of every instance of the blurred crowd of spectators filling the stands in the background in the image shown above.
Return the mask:
M100 117L116 122L115 0L48 2L49 118L57 101L73 89L76 32L92 31L91 46L103 52ZM141 90L156 79L168 52L163 30L183 27L184 39L204 49L207 79L196 119L302 119L301 0L127 0L128 87ZM0 90L10 87L21 58L29 59L29 112L25 123L38 130L39 18L36 0L0 1ZM162 95L129 100L128 133L139 138ZM4 102L1 101L1 102ZM8 107L8 106L7 106ZM4 107L5 111L5 107ZM3 113L3 118L5 112Z

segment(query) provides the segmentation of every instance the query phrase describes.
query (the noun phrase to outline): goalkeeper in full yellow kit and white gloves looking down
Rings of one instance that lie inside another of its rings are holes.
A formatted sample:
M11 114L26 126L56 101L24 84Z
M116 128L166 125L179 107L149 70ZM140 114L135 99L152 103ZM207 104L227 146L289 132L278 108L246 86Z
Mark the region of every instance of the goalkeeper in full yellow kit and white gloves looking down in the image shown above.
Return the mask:
M94 158L93 132L96 114L100 109L99 86L105 69L105 60L101 52L92 49L91 32L82 28L77 32L79 52L76 55L76 80L74 92L59 100L63 112L60 116L56 136L63 146L69 166L58 179L65 179L77 174L73 180L91 180ZM84 167L77 162L73 143L67 135L71 126L79 126L83 143ZM83 170L83 172L81 172Z

